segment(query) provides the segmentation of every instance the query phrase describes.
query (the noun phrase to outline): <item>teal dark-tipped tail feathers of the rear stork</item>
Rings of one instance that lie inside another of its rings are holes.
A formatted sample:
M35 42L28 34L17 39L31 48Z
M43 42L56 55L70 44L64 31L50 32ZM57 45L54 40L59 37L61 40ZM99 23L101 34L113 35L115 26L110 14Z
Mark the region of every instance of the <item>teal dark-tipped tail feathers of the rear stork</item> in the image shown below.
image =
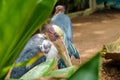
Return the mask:
M69 42L69 46L67 49L68 49L70 56L73 55L76 59L80 59L80 55L79 55L77 49L74 47L74 45L71 42Z

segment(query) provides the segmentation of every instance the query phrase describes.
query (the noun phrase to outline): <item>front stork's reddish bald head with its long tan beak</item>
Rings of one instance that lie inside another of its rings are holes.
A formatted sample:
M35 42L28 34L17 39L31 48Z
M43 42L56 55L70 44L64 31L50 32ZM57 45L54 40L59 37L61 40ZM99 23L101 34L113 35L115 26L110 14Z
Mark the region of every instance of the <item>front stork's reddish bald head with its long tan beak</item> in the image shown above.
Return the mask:
M56 46L59 55L63 58L67 66L71 66L71 60L63 39L63 31L54 24L47 24L44 26L45 34Z

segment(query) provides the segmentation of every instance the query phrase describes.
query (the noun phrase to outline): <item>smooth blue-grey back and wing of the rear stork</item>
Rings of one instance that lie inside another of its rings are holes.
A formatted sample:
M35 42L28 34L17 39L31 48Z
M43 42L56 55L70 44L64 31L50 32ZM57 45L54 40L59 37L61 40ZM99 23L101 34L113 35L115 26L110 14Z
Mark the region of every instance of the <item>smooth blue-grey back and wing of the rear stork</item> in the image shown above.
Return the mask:
M52 17L51 23L59 26L67 35L67 38L72 42L73 32L70 18L65 14L56 14Z

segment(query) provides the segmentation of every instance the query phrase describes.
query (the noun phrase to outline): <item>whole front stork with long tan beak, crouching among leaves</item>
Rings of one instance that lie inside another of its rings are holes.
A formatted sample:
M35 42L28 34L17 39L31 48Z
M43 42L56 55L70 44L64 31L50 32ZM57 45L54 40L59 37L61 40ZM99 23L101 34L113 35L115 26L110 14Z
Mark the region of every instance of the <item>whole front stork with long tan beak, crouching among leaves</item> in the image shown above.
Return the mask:
M25 62L38 54L40 56L29 66L13 67L10 78L20 78L36 65L53 58L62 58L66 66L72 66L64 42L60 37L62 31L58 29L59 27L54 29L52 26L52 24L45 25L44 34L38 33L29 39L14 64Z

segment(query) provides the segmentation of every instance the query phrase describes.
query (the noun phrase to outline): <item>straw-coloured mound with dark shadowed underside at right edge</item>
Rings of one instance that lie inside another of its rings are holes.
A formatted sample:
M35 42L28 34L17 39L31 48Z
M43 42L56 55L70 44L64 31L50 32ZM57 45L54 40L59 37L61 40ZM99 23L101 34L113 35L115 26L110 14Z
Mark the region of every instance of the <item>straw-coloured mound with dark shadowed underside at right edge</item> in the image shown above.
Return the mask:
M101 55L106 59L120 60L120 38L103 46Z

